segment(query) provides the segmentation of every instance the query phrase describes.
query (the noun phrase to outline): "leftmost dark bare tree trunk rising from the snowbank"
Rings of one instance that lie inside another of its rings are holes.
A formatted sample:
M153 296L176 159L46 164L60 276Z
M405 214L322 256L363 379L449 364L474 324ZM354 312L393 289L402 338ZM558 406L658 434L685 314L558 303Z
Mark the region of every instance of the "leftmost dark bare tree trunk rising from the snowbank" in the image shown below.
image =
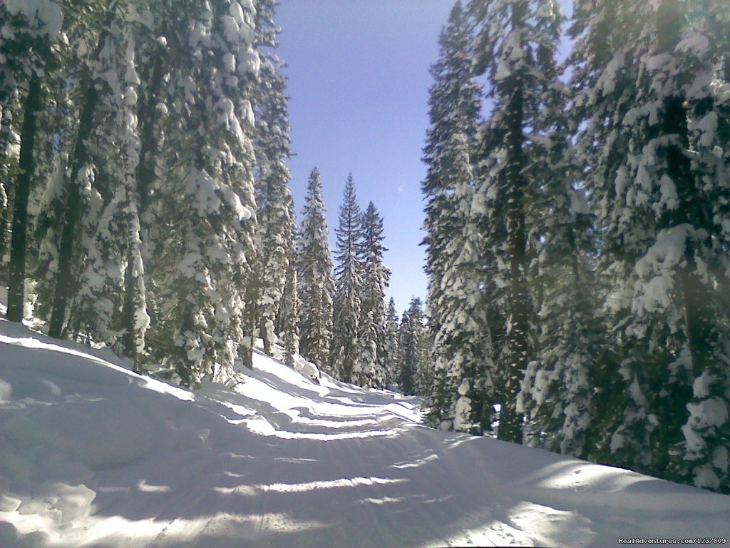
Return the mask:
M20 173L15 180L13 201L12 240L7 294L7 319L23 321L23 301L26 283L26 247L28 232L28 196L35 170L34 143L36 140L37 112L41 107L41 80L36 72L31 76L23 113L20 134Z

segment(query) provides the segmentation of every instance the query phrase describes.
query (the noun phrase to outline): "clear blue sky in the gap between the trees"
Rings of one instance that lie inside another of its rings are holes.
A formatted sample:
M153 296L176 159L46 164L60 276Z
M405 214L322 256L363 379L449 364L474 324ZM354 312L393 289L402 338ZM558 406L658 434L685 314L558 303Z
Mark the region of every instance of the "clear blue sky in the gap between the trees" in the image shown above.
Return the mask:
M297 213L313 167L322 174L330 245L347 173L385 224L387 297L402 312L426 297L420 230L429 126L429 66L450 0L281 0L278 55L288 67L289 166Z

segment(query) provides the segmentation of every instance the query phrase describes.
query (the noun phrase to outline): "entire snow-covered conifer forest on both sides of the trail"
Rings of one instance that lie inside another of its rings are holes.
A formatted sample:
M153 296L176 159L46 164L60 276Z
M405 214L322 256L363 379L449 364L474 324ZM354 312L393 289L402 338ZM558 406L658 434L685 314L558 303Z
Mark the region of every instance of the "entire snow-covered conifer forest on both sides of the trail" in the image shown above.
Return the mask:
M0 0L7 320L193 391L260 340L445 432L730 493L730 2L457 0L401 315L357 173L332 250L326 174L293 202L277 4Z

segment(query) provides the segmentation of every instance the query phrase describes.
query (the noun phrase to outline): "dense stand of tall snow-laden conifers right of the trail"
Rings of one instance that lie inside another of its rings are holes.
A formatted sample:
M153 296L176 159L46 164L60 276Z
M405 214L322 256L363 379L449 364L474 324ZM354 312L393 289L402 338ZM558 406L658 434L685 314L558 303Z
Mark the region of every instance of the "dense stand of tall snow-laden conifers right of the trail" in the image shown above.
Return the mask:
M499 403L501 439L729 492L730 4L575 1L558 64L562 23L474 0L443 31L431 416Z

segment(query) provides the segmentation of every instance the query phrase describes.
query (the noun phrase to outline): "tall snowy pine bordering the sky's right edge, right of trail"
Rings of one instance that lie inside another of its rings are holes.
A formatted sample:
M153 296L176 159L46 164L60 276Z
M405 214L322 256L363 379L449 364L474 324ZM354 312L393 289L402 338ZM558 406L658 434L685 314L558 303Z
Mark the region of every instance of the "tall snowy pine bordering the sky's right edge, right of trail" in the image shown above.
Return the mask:
M477 232L475 157L481 86L472 69L472 22L457 1L439 37L440 58L431 67L429 116L423 161L428 167L426 273L436 364L429 420L453 421L457 390L475 402L469 426L480 424L483 388L491 387L491 345L480 299L480 235ZM485 336L486 335L486 336ZM491 392L491 390L490 390ZM462 406L463 407L463 406Z

